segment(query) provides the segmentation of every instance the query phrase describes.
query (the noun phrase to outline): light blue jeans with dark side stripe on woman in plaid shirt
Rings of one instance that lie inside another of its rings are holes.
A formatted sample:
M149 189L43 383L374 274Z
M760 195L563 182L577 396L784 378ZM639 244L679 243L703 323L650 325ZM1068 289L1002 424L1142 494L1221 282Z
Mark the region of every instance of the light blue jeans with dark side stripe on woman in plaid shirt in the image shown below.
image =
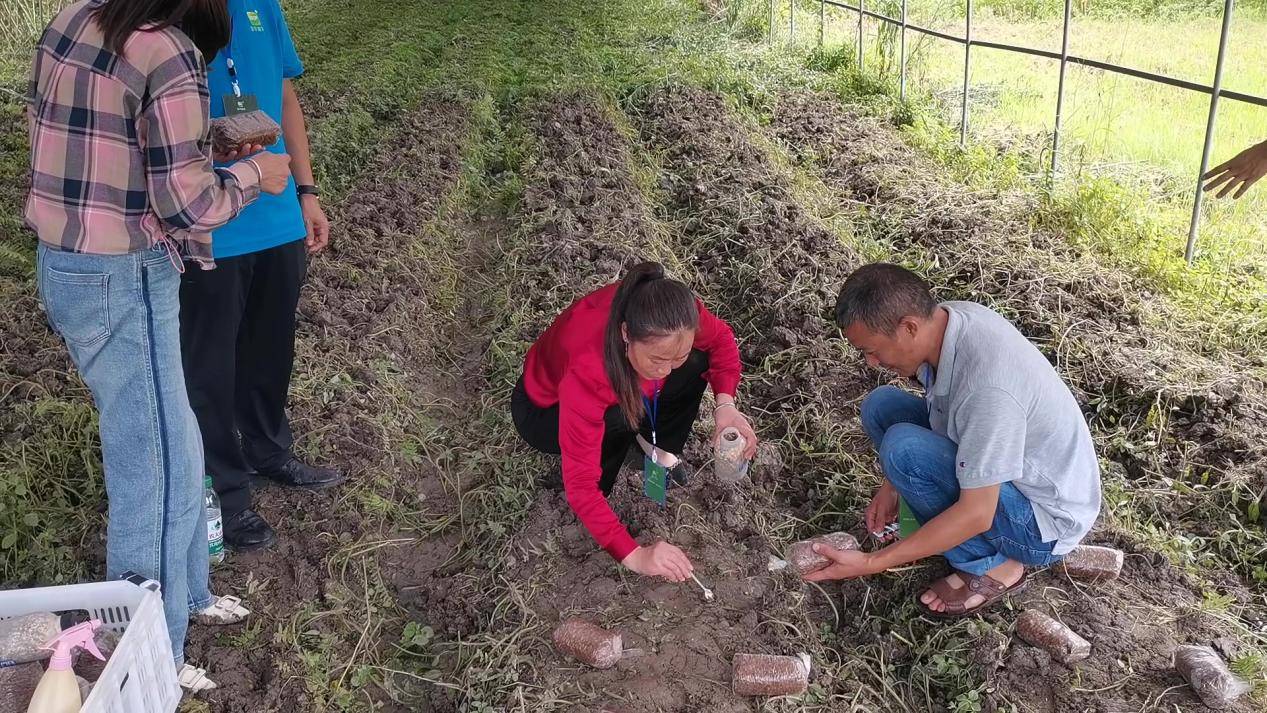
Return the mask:
M110 505L109 579L162 585L177 666L189 614L210 604L203 442L180 361L180 274L166 248L85 255L39 246L48 322L92 391Z

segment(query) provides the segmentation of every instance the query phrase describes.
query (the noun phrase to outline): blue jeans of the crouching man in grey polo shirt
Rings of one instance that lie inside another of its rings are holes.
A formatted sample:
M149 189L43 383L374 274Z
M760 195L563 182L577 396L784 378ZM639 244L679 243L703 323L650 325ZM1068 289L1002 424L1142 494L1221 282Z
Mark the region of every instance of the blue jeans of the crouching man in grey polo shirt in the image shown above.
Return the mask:
M879 452L884 476L920 524L959 500L954 467L959 446L929 428L924 399L896 386L882 386L867 395L862 412L863 428ZM1054 541L1043 541L1029 499L1005 483L998 488L993 526L944 555L952 567L982 575L1007 560L1029 566L1050 565L1060 558L1052 555L1054 546Z

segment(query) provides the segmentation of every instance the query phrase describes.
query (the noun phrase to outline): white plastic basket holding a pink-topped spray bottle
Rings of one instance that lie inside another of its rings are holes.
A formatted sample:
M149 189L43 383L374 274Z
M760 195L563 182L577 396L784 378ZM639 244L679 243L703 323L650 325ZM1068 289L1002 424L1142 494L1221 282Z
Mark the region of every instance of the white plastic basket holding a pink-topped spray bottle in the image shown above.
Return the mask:
M87 609L103 628L122 634L80 713L172 713L180 684L171 657L158 583L71 584L0 591L0 619L35 612ZM81 653L91 656L91 653Z

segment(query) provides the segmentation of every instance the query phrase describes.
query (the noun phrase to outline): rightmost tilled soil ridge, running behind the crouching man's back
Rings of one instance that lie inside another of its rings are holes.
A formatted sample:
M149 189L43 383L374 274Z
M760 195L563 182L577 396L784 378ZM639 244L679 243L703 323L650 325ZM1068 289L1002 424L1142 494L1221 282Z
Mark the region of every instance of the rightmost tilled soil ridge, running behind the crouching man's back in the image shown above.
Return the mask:
M782 96L769 133L859 203L875 237L925 266L944 296L1012 319L1060 369L1101 452L1130 477L1267 485L1267 389L1253 371L1188 344L1143 280L1035 228L1033 198L957 185L891 125L816 94ZM1172 503L1176 519L1201 505Z

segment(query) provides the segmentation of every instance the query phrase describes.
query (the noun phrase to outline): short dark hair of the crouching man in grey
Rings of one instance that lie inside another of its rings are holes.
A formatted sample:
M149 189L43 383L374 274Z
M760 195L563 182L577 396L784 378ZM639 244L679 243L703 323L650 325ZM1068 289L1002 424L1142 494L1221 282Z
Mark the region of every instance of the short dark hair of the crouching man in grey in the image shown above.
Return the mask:
M938 309L929 284L910 270L875 262L845 280L836 299L836 324L845 329L862 322L877 334L892 334L903 317L929 318Z

